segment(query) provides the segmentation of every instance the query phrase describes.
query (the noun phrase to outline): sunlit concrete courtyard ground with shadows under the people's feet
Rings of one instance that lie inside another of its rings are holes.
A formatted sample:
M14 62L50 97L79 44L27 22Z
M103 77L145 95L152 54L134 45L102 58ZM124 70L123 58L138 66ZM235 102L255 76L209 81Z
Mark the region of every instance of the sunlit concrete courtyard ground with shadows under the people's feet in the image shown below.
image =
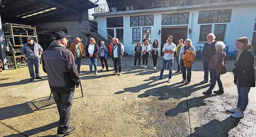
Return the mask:
M234 119L225 109L236 106L237 89L231 73L233 62L226 61L228 72L221 75L222 95L203 95L209 87L203 80L202 62L194 62L192 80L181 84L182 75L173 74L167 83L168 70L156 81L160 70L133 67L133 57L122 59L122 75L98 71L88 75L88 60L82 60L82 87L76 89L70 125L76 126L70 137L255 137L256 95L249 93L245 118ZM158 59L160 68L162 57ZM97 61L101 69L100 60ZM113 69L108 59L109 69ZM177 69L174 60L173 72ZM57 132L59 115L47 75L28 82L26 66L0 72L0 136L52 137ZM214 90L217 90L216 85ZM126 97L126 99L123 99Z

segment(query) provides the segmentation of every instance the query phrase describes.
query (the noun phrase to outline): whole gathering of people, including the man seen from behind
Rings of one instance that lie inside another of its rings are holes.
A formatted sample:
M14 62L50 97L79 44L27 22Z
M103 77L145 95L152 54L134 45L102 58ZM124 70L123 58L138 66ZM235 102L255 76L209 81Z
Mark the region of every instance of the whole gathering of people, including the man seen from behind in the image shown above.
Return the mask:
M89 59L90 74L92 74L92 65L94 65L95 74L97 74L97 57L100 57L102 63L102 70L104 70L104 64L106 70L108 70L107 65L107 53L111 55L114 63L114 75L121 75L121 58L124 53L124 46L119 43L116 38L112 39L109 50L101 42L101 46L97 46L95 40L90 38L90 43L84 48L79 38L75 38L75 42L71 44L70 50L66 48L68 38L63 31L56 31L54 34L54 41L51 43L49 48L47 48L43 53L40 45L33 41L33 38L28 38L26 44L22 47L22 54L28 62L29 72L31 79L42 79L39 74L39 59L42 60L42 68L45 73L47 73L49 86L53 93L54 99L57 104L60 120L56 136L63 137L74 132L75 127L69 126L70 121L70 109L73 103L74 88L78 88L81 85L79 73L81 60L83 59L84 53ZM186 39L183 44L183 40L179 40L179 45L176 46L172 43L172 36L168 36L167 43L164 44L162 52L164 53L160 76L157 80L162 79L164 66L168 62L169 66L169 77L168 81L171 80L172 75L172 63L174 59L174 52L176 51L176 61L178 70L176 73L182 72L183 80L181 83L189 84L191 81L191 68L193 65L193 59L195 57L195 48L193 47L192 41ZM248 105L248 93L251 87L255 87L255 69L254 69L254 49L250 45L248 38L242 37L236 40L235 45L238 52L235 57L235 64L233 69L234 83L237 86L238 101L236 108L227 109L226 111L232 113L230 116L234 118L243 118L244 111ZM225 44L223 42L215 41L214 34L210 33L207 36L207 42L204 44L203 48L203 69L204 69L204 80L202 83L208 82L209 70L210 70L210 80L211 84L209 89L203 92L203 94L212 94L212 90L216 84L219 85L219 90L214 91L216 94L223 94L223 85L220 80L220 74L217 73L216 69L218 65L225 64L225 52L223 49ZM146 40L145 44L141 47L141 43L138 42L135 47L135 60L134 67L136 65L136 60L139 58L138 66L140 65L141 53L143 61L143 67L147 68L149 52L152 50L152 58L154 62L154 69L156 69L157 56L159 51L158 40L154 40L152 47L150 47L149 42ZM103 64L104 62L104 64ZM33 68L35 65L35 73ZM141 66L141 67L142 67ZM119 73L118 73L119 71Z

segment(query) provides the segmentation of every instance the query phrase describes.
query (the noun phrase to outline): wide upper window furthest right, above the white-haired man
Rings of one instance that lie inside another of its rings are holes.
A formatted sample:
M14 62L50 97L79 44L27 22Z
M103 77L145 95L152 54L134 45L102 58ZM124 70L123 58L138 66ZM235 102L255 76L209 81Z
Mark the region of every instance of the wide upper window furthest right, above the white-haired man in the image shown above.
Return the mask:
M199 11L198 24L230 22L231 9Z

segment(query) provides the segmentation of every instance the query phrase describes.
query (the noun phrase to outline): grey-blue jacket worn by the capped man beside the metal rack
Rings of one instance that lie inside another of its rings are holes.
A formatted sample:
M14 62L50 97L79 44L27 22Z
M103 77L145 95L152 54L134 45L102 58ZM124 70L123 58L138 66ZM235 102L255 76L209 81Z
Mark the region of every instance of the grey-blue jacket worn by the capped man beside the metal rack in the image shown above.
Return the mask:
M28 43L24 44L21 47L21 54L26 55L29 59L37 59L39 57L39 51L43 51L42 47L35 43L34 50L31 49L31 47L28 45Z

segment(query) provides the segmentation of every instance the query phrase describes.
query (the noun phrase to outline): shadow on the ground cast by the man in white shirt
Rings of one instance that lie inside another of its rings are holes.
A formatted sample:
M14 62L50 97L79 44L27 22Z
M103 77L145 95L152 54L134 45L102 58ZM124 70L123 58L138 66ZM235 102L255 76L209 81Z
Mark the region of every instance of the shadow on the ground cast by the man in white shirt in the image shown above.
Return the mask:
M137 86L134 86L134 87L124 88L123 91L115 92L115 94L122 94L122 93L125 93L125 92L137 93L137 92L140 92L140 90L142 90L142 89L154 87L156 85L159 85L159 84L162 84L162 83L166 82L166 81L157 82L156 80L153 80L153 79L156 79L156 76L152 76L149 79L143 80L143 81L150 81L148 83L144 83L144 84L137 85ZM156 82L156 83L152 84L153 82Z

